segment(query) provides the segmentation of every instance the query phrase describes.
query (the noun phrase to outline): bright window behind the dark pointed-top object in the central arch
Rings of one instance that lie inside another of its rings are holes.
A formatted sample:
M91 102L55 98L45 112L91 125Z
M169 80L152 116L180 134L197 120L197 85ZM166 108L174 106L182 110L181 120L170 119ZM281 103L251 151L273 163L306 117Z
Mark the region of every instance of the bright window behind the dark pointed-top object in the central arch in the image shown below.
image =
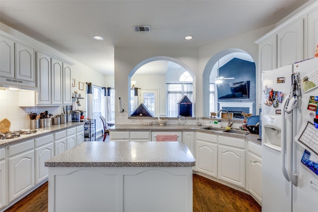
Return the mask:
M192 77L191 77L192 78ZM167 83L167 117L178 116L178 102L186 95L192 102L192 83Z

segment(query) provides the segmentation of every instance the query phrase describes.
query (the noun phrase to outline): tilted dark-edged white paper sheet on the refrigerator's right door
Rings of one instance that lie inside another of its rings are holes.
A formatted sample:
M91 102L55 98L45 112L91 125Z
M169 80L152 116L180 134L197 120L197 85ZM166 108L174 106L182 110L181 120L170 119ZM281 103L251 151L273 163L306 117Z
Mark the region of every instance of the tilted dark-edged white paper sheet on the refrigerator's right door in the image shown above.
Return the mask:
M318 129L315 128L314 124L307 122L307 125L300 135L298 141L304 145L305 148L310 149L316 155L318 155Z

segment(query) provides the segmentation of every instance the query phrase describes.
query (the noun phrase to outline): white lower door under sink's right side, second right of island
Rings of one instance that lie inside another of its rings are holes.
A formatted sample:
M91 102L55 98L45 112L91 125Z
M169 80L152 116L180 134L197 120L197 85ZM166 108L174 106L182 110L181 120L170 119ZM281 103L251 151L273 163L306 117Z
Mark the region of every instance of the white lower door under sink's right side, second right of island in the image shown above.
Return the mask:
M218 146L218 178L245 188L245 150Z

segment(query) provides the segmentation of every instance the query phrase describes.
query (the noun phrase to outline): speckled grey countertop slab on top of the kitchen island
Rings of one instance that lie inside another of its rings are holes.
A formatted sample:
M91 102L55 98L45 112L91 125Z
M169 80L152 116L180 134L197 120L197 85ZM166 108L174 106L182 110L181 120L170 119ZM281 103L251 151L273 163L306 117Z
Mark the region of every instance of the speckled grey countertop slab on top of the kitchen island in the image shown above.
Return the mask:
M46 167L192 167L181 142L84 142L45 161Z

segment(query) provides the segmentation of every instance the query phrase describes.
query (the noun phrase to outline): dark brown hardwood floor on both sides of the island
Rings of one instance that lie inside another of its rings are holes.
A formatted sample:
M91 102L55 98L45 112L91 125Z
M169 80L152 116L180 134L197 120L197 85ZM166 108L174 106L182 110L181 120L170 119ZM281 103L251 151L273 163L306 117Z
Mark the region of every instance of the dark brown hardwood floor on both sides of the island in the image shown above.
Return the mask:
M5 212L47 212L48 183L17 202ZM249 195L193 174L193 212L260 212Z

